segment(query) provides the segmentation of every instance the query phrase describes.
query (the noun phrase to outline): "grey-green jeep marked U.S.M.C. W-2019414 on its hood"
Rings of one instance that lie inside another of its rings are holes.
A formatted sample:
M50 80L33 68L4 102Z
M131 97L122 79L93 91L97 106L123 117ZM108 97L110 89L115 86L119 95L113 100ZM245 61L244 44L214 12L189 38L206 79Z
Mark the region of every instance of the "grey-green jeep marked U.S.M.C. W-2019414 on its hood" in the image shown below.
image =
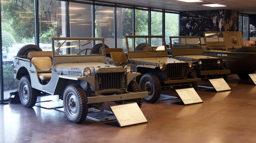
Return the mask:
M35 106L43 93L59 95L73 123L84 121L88 108L103 107L104 102L141 106L148 92L140 92L132 80L141 74L131 71L130 65L107 65L104 46L101 54L94 54L92 48L98 43L104 45L104 39L52 37L52 51L36 45L22 47L13 65L22 105Z

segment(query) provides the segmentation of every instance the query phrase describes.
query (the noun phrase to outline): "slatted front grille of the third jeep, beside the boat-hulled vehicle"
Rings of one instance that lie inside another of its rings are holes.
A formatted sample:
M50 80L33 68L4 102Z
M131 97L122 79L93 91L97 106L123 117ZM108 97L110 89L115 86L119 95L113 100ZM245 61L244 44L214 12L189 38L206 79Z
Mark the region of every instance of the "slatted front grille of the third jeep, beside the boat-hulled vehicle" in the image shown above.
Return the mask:
M218 59L200 59L202 61L201 70L202 71L212 71L218 70Z

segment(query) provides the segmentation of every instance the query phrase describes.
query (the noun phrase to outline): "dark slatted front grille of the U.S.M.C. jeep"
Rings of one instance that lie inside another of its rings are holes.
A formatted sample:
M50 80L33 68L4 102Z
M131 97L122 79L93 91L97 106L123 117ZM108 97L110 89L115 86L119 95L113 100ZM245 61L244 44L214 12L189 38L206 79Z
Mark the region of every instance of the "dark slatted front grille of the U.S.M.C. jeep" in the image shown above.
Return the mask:
M125 89L127 74L125 72L96 74L96 86L96 91Z

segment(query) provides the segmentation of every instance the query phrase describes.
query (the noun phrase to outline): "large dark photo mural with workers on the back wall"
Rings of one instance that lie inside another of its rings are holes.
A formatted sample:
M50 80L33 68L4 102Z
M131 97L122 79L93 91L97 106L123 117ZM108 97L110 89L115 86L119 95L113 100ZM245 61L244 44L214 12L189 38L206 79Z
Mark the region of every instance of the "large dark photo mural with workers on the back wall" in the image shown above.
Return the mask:
M238 12L181 11L180 36L204 37L204 32L238 31Z

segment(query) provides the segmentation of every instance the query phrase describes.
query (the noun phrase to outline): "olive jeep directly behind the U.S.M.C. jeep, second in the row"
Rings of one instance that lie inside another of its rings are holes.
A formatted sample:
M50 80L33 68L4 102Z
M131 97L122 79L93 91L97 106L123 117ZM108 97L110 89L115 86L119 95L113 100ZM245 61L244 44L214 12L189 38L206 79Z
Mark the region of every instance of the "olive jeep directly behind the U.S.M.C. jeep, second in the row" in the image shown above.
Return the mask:
M162 89L192 86L198 89L195 72L190 63L168 57L164 36L126 36L127 54L111 52L110 63L135 65L142 75L136 77L142 91L148 92L143 101L158 101ZM113 60L113 61L112 61Z

